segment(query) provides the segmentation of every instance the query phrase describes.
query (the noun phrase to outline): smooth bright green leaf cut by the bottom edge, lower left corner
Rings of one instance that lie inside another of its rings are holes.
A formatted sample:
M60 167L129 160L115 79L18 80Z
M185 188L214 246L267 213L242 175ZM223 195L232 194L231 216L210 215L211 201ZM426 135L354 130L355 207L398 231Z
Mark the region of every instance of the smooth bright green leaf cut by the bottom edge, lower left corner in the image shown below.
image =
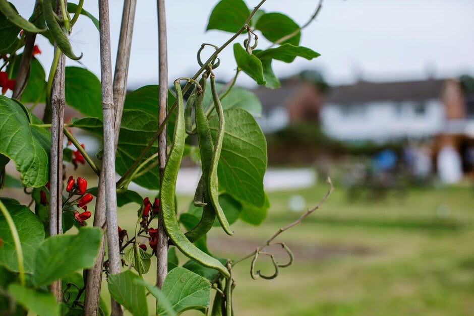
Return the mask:
M39 315L59 315L60 306L49 292L28 289L20 284L10 284L8 291L23 307Z

